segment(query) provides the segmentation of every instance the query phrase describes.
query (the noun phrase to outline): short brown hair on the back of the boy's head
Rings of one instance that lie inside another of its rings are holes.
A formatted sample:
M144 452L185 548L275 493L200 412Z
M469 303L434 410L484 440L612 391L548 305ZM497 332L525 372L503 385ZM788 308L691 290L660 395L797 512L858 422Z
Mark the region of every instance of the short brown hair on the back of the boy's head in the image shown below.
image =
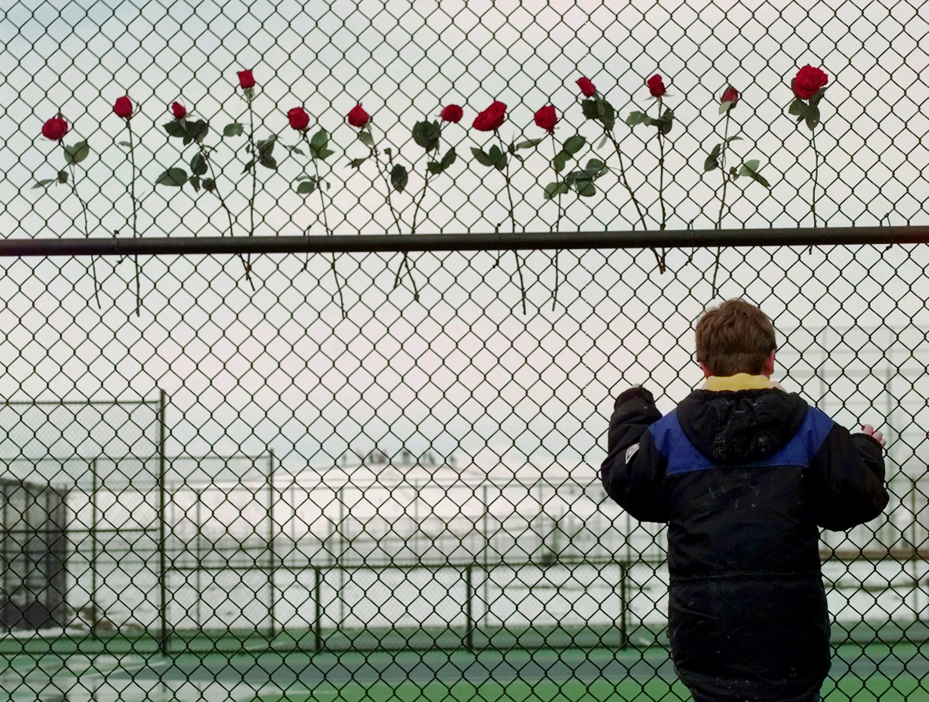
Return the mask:
M758 375L777 348L771 320L740 298L708 309L697 322L697 360L713 375Z

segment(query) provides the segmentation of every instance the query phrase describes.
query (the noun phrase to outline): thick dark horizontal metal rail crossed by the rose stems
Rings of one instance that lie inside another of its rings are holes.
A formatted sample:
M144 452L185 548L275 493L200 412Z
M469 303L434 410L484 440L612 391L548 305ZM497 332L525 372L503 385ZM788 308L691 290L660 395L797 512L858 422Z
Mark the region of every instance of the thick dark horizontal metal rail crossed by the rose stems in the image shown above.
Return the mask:
M304 237L0 239L0 256L294 254L929 243L929 226L358 234Z

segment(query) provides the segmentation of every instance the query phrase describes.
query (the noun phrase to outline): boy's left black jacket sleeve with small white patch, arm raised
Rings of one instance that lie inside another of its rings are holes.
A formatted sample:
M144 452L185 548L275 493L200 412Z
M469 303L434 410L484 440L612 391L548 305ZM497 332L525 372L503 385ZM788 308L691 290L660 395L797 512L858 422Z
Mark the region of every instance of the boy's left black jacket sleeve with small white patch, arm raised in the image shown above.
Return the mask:
M667 461L648 431L660 419L648 390L634 387L622 393L609 420L608 453L600 467L609 497L642 522L668 521L661 489Z

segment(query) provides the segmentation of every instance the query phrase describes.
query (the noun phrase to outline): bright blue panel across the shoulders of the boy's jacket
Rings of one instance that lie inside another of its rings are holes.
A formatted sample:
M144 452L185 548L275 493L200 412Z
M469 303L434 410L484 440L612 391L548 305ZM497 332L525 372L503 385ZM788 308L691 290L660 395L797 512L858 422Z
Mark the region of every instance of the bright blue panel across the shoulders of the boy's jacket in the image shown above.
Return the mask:
M814 454L822 446L823 440L832 428L832 420L818 409L811 407L806 410L804 421L800 429L784 448L766 458L764 461L739 463L739 468L764 467L772 465L800 465L806 467L813 459ZM661 451L668 460L666 474L687 473L688 471L701 471L707 468L730 468L737 466L721 466L710 461L687 438L681 424L677 420L676 412L661 417L652 424L648 431L655 438L655 447Z

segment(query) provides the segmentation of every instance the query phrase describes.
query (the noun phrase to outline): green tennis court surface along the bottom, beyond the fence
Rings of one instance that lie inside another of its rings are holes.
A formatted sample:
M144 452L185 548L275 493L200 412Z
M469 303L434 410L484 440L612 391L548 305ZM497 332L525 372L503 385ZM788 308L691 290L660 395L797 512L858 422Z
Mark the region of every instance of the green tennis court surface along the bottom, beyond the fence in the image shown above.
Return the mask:
M829 702L929 702L929 658L914 644L840 647ZM159 656L105 652L0 658L11 702L593 702L689 700L667 651ZM838 681L838 683L834 682Z

